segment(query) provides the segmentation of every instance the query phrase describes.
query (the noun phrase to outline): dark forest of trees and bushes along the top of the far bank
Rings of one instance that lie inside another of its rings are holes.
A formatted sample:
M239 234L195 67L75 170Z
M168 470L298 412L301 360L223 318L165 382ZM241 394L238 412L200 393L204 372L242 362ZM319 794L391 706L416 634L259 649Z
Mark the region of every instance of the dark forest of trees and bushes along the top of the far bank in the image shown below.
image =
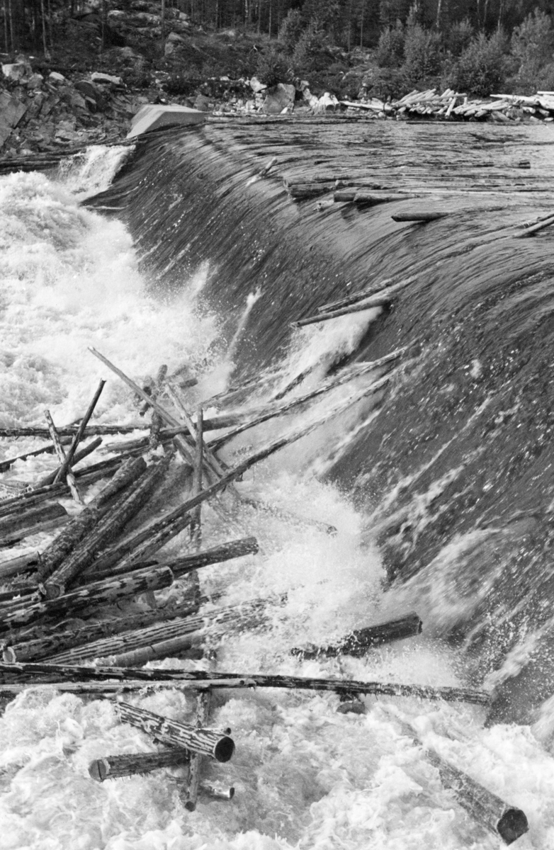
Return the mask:
M73 48L76 67L88 44L107 68L106 52L130 45L150 69L167 68L167 37L178 38L169 62L175 94L179 81L187 89L187 77L252 74L268 85L309 78L316 89L347 97L360 87L385 98L429 86L483 96L499 87L517 94L554 88L550 0L1 2L0 49L8 57L20 51L50 60ZM225 37L233 47L214 52Z

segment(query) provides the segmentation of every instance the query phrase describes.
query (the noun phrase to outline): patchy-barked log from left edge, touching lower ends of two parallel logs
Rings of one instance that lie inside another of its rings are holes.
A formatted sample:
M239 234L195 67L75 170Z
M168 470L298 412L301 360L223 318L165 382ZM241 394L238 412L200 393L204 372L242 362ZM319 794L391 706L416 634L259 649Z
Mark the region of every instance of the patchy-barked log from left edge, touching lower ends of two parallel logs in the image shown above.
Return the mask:
M14 606L10 609L2 606L0 632L9 632L42 619L75 616L83 609L101 608L122 599L136 598L146 591L169 587L172 581L172 571L167 567L149 568L111 581L94 582L57 599Z

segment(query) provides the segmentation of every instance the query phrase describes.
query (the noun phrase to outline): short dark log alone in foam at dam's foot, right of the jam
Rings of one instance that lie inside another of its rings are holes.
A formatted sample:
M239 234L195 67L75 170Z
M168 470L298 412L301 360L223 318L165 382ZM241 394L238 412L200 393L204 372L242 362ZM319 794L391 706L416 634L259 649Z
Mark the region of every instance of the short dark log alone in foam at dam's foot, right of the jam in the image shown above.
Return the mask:
M319 658L322 655L327 658L335 658L336 655L360 657L365 655L368 649L375 649L383 643L392 643L395 640L404 640L404 638L421 634L422 625L419 616L411 613L398 620L357 629L350 632L346 638L342 638L339 643L329 646L310 646L305 649L294 647L291 649L291 655L297 655L302 659Z

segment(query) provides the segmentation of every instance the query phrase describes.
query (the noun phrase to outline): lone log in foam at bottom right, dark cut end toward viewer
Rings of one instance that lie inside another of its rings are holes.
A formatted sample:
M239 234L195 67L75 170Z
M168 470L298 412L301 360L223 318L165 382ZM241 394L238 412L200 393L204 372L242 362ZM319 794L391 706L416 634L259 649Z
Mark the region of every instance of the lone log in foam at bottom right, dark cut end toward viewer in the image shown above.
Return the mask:
M500 836L505 844L512 844L529 830L527 817L520 808L510 806L476 779L439 756L432 747L424 745L410 723L404 723L396 716L394 719L400 724L403 734L423 746L428 761L438 769L444 787L454 792L456 801L478 824Z

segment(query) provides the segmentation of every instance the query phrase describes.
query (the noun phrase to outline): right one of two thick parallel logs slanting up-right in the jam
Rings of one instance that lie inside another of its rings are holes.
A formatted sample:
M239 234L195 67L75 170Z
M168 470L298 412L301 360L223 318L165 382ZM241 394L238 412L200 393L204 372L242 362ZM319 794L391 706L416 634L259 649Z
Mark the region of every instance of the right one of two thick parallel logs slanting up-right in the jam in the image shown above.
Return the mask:
M138 484L131 493L123 491L116 506L100 519L99 524L82 539L45 582L44 588L49 599L62 595L65 587L70 586L76 576L93 563L95 555L116 538L129 519L139 513L161 483L171 460L172 455L167 455L152 463L138 479Z

